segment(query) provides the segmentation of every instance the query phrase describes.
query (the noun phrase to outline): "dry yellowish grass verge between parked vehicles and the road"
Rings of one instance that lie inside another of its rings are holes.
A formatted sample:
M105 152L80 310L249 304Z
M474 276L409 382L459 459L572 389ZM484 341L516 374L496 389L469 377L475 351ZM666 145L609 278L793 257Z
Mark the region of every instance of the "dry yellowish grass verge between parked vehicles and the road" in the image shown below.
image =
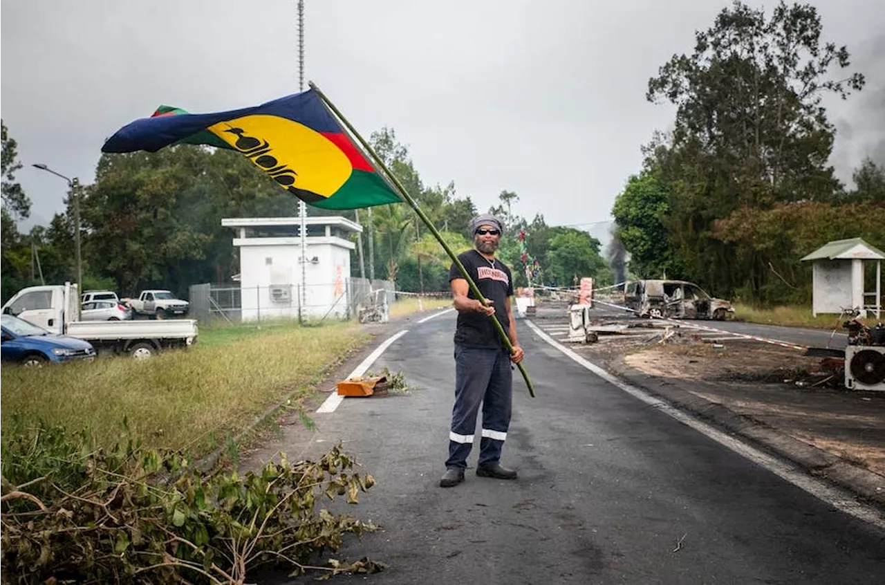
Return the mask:
M341 322L221 327L201 331L190 350L142 362L4 367L0 412L89 427L99 444L111 444L126 417L145 446L204 454L285 396L309 391L367 338L358 325ZM0 434L9 425L9 416L0 419Z

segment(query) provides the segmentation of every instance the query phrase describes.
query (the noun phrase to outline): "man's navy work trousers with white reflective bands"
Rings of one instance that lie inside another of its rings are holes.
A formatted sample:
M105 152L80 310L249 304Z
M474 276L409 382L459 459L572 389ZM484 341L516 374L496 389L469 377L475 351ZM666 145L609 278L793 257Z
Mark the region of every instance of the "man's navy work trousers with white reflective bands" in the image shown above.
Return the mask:
M446 468L465 469L482 404L480 466L497 463L510 427L513 372L506 348L455 345L455 406Z

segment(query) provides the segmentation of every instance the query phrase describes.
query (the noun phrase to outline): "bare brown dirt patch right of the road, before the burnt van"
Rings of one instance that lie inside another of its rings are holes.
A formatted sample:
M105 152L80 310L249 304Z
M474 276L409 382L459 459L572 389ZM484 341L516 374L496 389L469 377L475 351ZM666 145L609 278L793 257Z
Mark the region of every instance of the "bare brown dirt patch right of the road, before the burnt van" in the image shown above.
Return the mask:
M885 476L885 393L843 388L820 358L762 343L634 347L627 366Z

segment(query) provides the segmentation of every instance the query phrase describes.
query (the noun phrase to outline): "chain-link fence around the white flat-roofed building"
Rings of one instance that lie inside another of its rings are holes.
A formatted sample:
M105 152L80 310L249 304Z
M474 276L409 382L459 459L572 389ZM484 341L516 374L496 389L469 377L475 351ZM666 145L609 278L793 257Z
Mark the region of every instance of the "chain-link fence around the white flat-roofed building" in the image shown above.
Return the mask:
M272 319L383 321L394 302L394 290L391 281L362 278L304 287L195 284L190 287L189 314L207 325Z

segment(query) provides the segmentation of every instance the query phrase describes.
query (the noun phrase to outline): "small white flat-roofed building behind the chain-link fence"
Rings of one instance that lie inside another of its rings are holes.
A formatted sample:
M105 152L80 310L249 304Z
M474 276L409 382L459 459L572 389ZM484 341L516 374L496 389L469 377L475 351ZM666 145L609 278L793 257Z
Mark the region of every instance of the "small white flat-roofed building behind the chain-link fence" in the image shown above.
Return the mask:
M302 304L305 317L347 313L350 250L356 248L348 237L363 227L338 216L307 218L306 224L303 281L301 219L221 219L238 232L243 321L297 319Z

